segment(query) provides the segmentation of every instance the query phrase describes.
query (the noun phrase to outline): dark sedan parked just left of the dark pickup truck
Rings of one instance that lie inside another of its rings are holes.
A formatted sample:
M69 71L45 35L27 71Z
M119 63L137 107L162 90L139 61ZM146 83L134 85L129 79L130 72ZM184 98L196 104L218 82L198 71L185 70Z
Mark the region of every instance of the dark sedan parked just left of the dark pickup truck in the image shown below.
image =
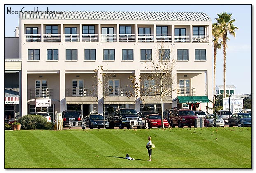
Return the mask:
M104 128L104 117L100 114L85 115L82 121L86 122L86 127L93 128ZM109 128L109 122L105 120L105 128Z

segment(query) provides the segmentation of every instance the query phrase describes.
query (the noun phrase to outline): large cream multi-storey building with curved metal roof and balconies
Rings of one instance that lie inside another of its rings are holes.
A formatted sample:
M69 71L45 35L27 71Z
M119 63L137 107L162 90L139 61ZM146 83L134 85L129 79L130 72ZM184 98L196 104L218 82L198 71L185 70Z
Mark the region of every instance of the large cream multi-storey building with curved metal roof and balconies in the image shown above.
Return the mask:
M141 77L139 86L155 83L149 78L155 72L146 67L157 60L161 43L167 60L177 60L172 86L177 89L165 97L164 109L209 112L206 107L213 98L211 28L211 19L201 12L21 14L21 115L37 111L54 115L72 108L82 115L103 113L102 93L107 96L105 111L126 107L139 112L147 106L159 112L159 97L141 94L143 105L140 98L128 98L125 93L132 90L131 75ZM108 74L104 84L98 82L103 78L100 71L95 77L100 66ZM51 106L36 105L38 101L51 101Z

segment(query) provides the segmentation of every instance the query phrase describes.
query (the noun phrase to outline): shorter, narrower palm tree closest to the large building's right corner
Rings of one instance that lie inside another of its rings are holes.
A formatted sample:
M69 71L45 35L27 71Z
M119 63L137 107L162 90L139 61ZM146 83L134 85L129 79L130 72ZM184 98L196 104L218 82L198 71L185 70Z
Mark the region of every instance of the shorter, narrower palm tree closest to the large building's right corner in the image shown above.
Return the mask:
M214 48L214 61L213 61L213 91L215 90L215 75L216 75L216 55L217 50L221 49L219 25L218 23L212 24L212 44ZM215 104L215 97L213 97L213 105Z

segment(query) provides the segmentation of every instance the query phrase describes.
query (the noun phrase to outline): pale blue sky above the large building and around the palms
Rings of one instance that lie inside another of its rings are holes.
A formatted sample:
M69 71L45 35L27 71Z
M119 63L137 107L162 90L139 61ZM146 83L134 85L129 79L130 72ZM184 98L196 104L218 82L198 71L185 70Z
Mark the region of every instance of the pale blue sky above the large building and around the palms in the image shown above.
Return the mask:
M21 1L18 1L20 3ZM70 1L71 2L71 1ZM82 1L85 2L85 1ZM111 1L114 3L113 1ZM132 1L133 2L133 1ZM141 2L141 1L140 1ZM170 1L167 1L170 3ZM232 1L233 2L233 1ZM226 52L226 85L235 85L236 94L248 94L252 92L252 1L244 0L246 4L101 4L94 5L15 5L5 2L4 10L4 37L14 37L14 30L18 26L19 15L7 14L7 7L13 11L34 9L51 11L161 11L161 12L205 12L216 22L217 14L221 12L232 13L236 21L236 37L229 36ZM24 3L24 2L23 2ZM45 3L45 2L44 2ZM134 2L136 3L136 2ZM202 3L205 3L202 1ZM218 2L217 2L218 3ZM212 53L213 56L213 53ZM217 52L216 85L223 85L223 50Z

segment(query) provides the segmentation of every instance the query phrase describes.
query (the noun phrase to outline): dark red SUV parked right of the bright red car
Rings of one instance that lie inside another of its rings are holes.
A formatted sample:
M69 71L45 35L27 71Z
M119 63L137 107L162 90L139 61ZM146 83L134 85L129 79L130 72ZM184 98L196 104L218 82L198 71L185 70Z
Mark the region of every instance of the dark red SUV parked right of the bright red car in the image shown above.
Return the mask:
M171 127L178 125L179 128L183 126L188 126L189 128L193 125L195 126L196 115L192 110L189 109L179 109L174 110L170 116Z

